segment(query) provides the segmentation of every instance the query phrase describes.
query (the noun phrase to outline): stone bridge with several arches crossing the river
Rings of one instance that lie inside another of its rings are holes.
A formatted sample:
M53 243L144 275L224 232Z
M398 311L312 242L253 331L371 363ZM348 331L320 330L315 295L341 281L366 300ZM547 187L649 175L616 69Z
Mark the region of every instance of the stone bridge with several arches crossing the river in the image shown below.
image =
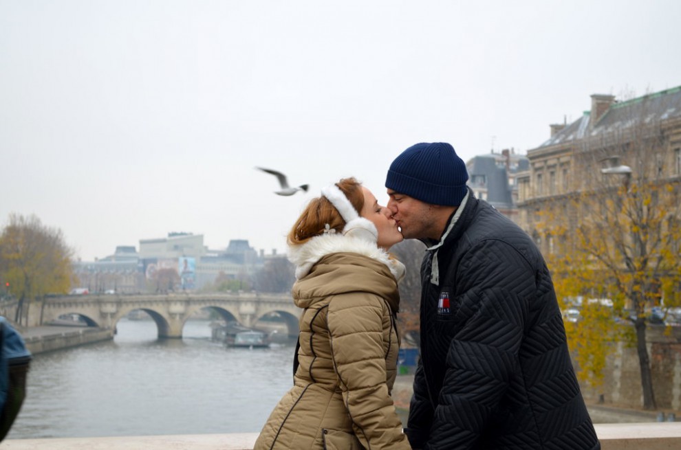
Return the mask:
M77 314L88 326L109 329L113 336L122 317L142 310L156 323L158 337L180 338L184 323L204 308L215 311L226 322L236 321L244 326L253 326L263 316L277 313L288 326L290 335L298 333L301 310L293 304L290 294L263 293L50 296L43 304L30 305L28 326L46 325L62 315Z

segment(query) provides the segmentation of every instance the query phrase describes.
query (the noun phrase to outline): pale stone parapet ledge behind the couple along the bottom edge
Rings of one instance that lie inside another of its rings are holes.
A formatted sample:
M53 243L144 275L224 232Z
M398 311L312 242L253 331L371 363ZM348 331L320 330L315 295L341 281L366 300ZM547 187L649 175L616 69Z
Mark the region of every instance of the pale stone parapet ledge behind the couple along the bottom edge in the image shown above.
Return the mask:
M681 449L681 422L597 424L602 450ZM5 440L0 450L252 450L257 433Z

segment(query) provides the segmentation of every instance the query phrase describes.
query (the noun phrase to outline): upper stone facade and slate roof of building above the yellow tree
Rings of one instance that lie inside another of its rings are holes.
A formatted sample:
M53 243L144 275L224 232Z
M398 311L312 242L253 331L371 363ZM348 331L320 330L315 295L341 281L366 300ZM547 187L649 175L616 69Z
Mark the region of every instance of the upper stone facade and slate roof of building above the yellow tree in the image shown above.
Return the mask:
M654 126L653 126L654 124ZM660 140L662 151L655 159L634 159L637 129L649 126ZM629 149L627 150L627 147ZM627 155L629 153L629 155ZM543 253L551 251L550 239L538 236L536 224L547 205L563 203L565 220L577 224L576 211L569 207L570 196L589 188L601 169L627 164L640 175L645 173L678 183L681 178L681 87L644 95L626 101L614 95L591 95L591 109L570 124L550 125L550 137L527 152L528 170L517 175L517 223L532 234ZM656 172L656 173L653 173Z

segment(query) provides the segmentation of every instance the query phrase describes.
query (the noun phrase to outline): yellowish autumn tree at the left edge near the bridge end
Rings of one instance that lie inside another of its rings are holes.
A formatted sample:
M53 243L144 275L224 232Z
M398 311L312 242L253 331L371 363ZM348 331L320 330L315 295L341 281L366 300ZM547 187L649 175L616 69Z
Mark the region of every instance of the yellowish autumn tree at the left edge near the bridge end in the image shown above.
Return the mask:
M33 302L48 293L67 293L71 286L73 251L61 230L46 227L36 216L10 214L0 234L0 276L17 299L14 321L28 317Z

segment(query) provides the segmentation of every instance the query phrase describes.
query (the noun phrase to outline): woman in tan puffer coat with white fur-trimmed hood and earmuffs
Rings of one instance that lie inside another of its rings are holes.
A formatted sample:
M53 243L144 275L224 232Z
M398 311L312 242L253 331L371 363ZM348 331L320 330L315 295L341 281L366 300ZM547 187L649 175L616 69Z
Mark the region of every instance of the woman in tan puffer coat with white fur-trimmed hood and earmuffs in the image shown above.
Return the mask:
M387 250L402 240L387 208L355 179L322 190L288 235L293 299L303 308L294 387L255 449L410 449L390 390L400 341Z

